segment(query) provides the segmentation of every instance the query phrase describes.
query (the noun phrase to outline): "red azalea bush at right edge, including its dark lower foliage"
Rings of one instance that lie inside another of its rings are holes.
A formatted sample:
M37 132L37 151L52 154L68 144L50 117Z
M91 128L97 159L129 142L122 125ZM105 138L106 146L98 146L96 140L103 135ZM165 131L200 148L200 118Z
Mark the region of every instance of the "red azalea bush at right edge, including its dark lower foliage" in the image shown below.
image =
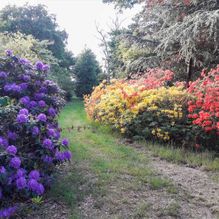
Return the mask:
M219 66L190 83L188 92L195 96L188 102L188 117L196 128L197 146L219 150Z

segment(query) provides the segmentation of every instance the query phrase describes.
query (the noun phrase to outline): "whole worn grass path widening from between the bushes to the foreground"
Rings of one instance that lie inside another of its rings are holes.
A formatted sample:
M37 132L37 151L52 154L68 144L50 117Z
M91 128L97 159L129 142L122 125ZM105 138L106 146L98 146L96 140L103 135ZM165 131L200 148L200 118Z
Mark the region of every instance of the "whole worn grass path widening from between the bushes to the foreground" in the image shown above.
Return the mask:
M183 184L190 181L177 178L185 171L183 177L194 173L202 181L203 174L205 186L205 172L154 158L146 147L125 144L106 127L90 124L80 101L68 104L59 121L71 142L73 161L60 168L45 211L41 209L46 213L34 218L217 218L217 203L212 208L201 194L191 195ZM193 188L194 183L199 181L193 181ZM215 186L212 196L218 197L218 184L210 185Z

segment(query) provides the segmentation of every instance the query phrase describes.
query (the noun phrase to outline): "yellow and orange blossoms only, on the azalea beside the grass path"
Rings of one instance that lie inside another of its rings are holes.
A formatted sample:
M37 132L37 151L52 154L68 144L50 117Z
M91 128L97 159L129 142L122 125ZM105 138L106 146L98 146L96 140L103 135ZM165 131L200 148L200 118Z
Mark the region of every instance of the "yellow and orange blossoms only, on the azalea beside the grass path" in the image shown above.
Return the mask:
M167 129L183 119L187 101L188 94L182 87L144 90L136 83L114 80L111 84L103 82L97 86L85 97L85 106L89 118L112 125L121 133L127 133L137 121L143 124L142 129L150 130L152 137L168 141L172 134Z

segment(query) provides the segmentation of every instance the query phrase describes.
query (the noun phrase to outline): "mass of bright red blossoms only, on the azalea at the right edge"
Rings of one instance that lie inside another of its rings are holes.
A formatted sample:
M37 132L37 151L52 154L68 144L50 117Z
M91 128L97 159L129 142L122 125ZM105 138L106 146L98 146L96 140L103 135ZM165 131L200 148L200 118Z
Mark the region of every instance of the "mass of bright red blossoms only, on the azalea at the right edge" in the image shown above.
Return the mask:
M205 132L219 136L219 66L191 82L188 91L196 98L188 102L188 117Z

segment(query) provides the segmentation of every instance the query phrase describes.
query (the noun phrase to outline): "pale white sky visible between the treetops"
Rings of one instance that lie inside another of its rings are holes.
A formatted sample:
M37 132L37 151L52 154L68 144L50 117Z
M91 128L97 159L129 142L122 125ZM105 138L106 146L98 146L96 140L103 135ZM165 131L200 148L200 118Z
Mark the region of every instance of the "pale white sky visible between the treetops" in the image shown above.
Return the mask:
M118 16L121 25L126 27L131 23L139 8L125 10L122 14L114 9L112 4L104 4L102 0L0 0L0 9L8 4L23 5L44 4L49 13L55 14L61 29L69 35L67 48L78 55L85 47L90 48L102 62L103 53L99 47L100 41L96 25L107 32L112 19Z

